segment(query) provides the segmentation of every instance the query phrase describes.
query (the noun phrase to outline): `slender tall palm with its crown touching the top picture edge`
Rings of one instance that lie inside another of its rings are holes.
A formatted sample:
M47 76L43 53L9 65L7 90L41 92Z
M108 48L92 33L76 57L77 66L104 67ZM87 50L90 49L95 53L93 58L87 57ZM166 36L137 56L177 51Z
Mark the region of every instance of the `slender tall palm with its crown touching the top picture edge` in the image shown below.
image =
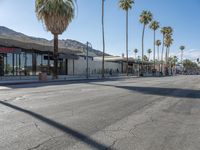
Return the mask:
M120 0L119 7L126 11L126 74L128 76L128 10L132 8L133 0Z

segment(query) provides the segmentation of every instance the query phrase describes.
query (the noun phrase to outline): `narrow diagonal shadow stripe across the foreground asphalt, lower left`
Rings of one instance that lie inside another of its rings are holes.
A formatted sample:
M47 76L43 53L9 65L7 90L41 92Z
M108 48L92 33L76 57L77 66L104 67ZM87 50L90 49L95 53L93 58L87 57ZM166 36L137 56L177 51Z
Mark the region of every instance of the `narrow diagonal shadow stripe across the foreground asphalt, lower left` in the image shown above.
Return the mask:
M104 145L104 144L101 144L101 143L98 143L97 141L95 141L94 139L90 138L89 136L87 135L84 135L83 133L80 133L79 131L76 131L74 129L71 129L61 123L58 123L54 120L51 120L49 118L46 118L40 114L37 114L35 112L32 112L30 110L26 110L26 109L23 109L23 108L20 108L18 106L15 106L15 105L12 105L10 103L7 103L7 102L3 102L3 101L0 101L0 104L4 105L4 106L7 106L7 107L10 107L12 109L15 109L17 111L20 111L20 112L23 112L25 114L28 114L68 135L71 135L72 137L74 137L75 139L97 149L97 150L111 150L110 147Z

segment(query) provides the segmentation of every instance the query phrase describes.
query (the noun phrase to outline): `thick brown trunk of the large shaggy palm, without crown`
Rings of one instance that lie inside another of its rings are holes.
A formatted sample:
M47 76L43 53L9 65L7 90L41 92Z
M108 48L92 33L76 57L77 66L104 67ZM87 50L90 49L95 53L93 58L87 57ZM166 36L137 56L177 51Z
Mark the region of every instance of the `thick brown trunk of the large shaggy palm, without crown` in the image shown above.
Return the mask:
M58 79L58 34L54 34L54 73L53 79Z

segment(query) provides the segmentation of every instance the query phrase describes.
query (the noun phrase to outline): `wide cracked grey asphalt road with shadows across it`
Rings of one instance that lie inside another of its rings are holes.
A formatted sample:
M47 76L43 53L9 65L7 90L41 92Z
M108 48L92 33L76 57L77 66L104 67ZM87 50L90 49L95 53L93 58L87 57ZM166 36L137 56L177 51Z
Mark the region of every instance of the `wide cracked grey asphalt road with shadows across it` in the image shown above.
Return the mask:
M199 150L200 76L0 87L0 150Z

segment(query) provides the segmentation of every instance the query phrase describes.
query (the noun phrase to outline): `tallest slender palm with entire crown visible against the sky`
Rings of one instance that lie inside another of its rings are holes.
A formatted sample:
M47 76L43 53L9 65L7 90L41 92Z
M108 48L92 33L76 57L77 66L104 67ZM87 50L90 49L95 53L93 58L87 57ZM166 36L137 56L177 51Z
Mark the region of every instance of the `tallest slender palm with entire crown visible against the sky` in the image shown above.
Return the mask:
M151 20L152 20L152 13L150 11L144 10L140 15L140 23L143 24L143 31L142 31L142 72L143 72L143 57L144 57L144 32L145 32L145 27L151 22Z

